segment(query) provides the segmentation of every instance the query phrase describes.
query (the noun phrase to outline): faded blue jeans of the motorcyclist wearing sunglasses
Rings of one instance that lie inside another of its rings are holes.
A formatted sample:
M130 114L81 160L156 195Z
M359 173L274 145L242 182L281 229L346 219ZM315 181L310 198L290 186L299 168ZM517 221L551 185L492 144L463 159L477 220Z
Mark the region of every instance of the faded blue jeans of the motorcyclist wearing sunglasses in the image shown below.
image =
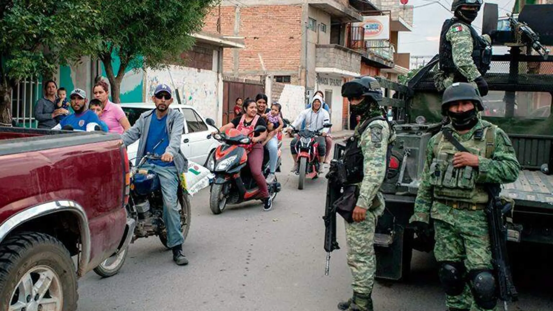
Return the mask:
M184 243L180 228L180 206L177 199L179 190L179 173L176 167L160 167L159 165L146 163L143 169L151 169L158 174L163 194L163 222L167 228L167 246L169 248Z

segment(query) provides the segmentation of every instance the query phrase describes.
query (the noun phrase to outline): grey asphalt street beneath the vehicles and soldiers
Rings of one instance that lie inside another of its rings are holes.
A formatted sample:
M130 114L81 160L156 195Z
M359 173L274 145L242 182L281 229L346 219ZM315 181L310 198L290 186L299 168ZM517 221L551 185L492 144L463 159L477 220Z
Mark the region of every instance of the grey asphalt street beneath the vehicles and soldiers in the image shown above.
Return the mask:
M283 187L272 211L263 212L256 201L212 215L209 189L200 191L191 200L188 266L176 266L157 237L139 239L119 274L102 279L90 272L79 281L79 310L337 310L339 300L351 297L343 221L338 216L342 248L332 253L325 276L326 180L307 180L298 190L287 142L277 174ZM517 253L520 300L509 310L553 310L553 251L533 246ZM415 251L412 265L408 283L377 281L375 310L445 310L432 254Z

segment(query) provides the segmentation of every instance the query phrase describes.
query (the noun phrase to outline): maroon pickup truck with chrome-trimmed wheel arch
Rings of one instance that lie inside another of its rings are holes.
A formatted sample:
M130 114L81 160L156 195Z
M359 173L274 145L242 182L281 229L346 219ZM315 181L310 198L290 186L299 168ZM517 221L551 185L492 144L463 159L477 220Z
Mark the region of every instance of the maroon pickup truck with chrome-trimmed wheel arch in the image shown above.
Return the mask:
M0 127L1 310L76 310L77 277L132 236L128 173L117 134Z

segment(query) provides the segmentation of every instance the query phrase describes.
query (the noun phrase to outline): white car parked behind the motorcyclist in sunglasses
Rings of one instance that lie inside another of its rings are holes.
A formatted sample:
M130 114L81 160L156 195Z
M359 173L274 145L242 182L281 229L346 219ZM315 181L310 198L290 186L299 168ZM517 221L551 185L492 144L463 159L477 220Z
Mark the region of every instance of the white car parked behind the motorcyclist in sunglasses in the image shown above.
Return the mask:
M121 108L123 108L129 122L131 122L131 126L133 126L142 113L155 109L155 105L144 102L122 103ZM217 128L208 125L206 119L192 106L171 104L170 108L178 110L184 115L184 128L182 129L182 142L180 144L182 153L188 160L205 166L207 157L221 144L211 134L216 132ZM129 159L134 159L137 152L138 141L127 147Z

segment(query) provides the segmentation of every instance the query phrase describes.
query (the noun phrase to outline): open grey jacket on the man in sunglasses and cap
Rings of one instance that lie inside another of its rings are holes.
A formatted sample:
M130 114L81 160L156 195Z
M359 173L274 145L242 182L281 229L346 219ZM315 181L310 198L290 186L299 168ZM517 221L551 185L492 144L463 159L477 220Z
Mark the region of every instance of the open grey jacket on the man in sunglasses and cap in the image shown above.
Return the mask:
M169 109L167 115L167 131L169 132L169 146L165 149L165 153L173 155L175 167L181 173L188 172L188 160L180 151L180 142L182 131L184 129L184 116L179 111ZM142 113L138 120L134 123L133 127L129 128L121 136L125 146L134 143L140 139L138 143L138 152L136 164L140 162L140 159L144 156L146 149L146 139L148 138L148 131L150 129L150 121L155 118L155 109Z

